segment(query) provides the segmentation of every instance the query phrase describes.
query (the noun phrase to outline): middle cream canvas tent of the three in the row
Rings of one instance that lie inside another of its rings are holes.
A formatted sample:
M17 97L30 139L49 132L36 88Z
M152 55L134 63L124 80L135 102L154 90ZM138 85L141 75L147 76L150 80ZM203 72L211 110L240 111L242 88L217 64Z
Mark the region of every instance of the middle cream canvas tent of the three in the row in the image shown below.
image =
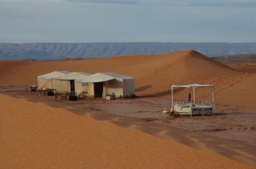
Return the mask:
M56 93L60 93L60 91L63 91L63 93L73 92L75 91L75 85L73 83L75 79L81 79L89 75L92 74L85 72L72 72L54 77L52 78L52 87L53 89L56 89Z

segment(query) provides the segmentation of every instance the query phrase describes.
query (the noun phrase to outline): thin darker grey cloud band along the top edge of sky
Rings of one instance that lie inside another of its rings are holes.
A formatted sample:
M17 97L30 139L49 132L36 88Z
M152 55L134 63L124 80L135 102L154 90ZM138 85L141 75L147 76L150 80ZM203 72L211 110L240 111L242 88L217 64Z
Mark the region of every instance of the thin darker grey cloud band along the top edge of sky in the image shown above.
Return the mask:
M168 5L188 7L231 7L231 8L256 8L256 1L241 0L65 0L68 2L85 2L100 4L131 4L131 5Z

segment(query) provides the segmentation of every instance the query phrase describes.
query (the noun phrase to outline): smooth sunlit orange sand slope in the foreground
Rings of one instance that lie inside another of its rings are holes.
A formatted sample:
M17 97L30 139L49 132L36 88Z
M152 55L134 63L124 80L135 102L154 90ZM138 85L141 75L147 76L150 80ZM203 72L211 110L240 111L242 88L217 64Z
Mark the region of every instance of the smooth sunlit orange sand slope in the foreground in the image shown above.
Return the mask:
M246 168L138 130L0 94L3 168ZM249 168L249 167L248 167Z

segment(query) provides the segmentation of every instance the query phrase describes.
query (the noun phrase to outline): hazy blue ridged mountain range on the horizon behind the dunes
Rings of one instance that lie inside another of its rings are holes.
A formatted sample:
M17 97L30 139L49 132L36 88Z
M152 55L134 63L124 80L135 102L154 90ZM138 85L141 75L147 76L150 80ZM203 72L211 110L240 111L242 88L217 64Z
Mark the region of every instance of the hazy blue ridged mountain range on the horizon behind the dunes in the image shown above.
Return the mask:
M208 57L256 53L256 43L0 43L0 60L61 60L167 54L195 50Z

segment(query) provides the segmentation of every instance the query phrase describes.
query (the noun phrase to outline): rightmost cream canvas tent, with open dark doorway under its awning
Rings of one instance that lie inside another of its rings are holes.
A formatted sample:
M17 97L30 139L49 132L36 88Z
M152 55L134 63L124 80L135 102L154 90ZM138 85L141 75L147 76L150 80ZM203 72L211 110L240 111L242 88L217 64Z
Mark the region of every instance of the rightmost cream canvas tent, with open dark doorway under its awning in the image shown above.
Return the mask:
M86 78L75 80L76 92L81 91L82 97L105 98L105 94L115 92L116 96L135 95L135 79L121 74L96 73Z

